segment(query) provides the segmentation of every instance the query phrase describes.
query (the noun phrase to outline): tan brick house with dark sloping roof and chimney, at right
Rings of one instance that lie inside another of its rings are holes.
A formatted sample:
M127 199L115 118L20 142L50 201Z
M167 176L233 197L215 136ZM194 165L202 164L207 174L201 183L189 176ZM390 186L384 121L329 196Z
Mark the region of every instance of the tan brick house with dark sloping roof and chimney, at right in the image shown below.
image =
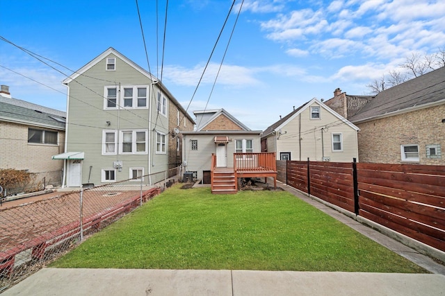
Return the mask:
M325 104L360 128L360 162L445 165L444 78L442 67L358 99L336 89Z

